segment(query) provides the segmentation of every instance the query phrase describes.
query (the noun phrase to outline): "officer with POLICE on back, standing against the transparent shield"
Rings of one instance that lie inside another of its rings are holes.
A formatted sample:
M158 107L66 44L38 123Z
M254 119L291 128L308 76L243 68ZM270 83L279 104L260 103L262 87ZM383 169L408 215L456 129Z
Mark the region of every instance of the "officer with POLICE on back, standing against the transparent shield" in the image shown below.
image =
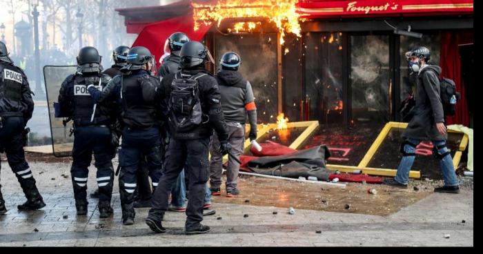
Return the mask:
M94 153L99 186L100 217L112 215L110 200L114 169L112 158L116 144L112 144L110 126L115 124L115 106L97 104L90 97L87 88L92 85L102 89L110 81L108 75L101 74L101 56L96 48L85 47L77 57L77 72L63 81L59 91L59 106L63 117L74 121L74 148L72 150L72 186L74 188L77 215L86 215L88 166Z

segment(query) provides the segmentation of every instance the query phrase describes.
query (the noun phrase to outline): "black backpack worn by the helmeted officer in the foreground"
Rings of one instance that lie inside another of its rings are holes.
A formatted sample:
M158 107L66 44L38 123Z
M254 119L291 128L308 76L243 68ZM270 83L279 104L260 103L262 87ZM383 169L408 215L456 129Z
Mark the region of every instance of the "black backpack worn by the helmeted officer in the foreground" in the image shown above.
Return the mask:
M199 101L199 79L207 75L198 73L191 77L175 74L169 99L169 119L177 133L187 133L201 125L203 112Z

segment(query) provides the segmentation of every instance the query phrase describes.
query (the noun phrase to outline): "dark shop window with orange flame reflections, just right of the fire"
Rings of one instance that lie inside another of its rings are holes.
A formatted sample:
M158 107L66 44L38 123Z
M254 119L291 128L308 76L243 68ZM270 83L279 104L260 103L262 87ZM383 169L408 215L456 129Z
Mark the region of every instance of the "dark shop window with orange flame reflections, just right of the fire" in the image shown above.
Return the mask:
M302 113L320 124L342 123L344 48L342 32L307 32L305 35L305 87Z

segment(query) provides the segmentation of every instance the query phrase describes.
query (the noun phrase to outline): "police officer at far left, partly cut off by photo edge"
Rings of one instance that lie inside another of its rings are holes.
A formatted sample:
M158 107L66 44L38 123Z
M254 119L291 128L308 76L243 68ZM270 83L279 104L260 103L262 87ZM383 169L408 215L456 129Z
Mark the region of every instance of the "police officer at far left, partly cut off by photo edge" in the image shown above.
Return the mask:
M8 164L19 180L27 202L17 206L19 210L37 210L46 206L35 186L32 171L23 152L23 129L32 118L34 101L28 80L23 71L14 66L8 57L5 43L0 41L0 150L7 154ZM0 185L1 188L1 185ZM5 201L0 190L0 214L6 213Z

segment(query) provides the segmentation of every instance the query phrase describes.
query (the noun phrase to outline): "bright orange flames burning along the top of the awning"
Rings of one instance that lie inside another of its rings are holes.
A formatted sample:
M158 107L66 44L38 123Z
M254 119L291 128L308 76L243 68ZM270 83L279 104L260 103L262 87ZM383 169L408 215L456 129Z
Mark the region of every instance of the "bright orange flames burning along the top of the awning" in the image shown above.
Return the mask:
M280 32L280 44L284 44L286 32L302 37L300 31L300 14L296 12L298 0L218 0L215 5L192 3L195 30L201 23L209 25L228 18L264 18L275 23ZM240 24L241 23L241 24ZM247 22L248 31L253 30L255 22ZM245 27L244 22L235 23L233 30L238 32Z

